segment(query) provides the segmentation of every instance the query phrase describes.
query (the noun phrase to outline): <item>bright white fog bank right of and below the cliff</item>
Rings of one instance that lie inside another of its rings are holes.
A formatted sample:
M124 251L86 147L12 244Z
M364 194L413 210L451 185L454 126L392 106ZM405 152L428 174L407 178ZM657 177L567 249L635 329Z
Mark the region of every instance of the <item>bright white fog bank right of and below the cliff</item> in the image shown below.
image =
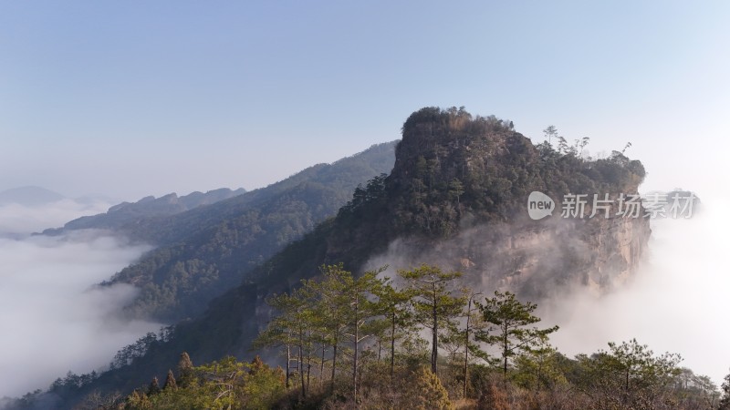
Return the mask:
M602 297L574 292L543 306L544 320L560 325L552 342L561 351L595 352L636 338L657 354L681 354L680 366L722 382L730 345L723 324L730 312L730 215L722 197L702 200L691 219L652 220L647 257L623 286Z

